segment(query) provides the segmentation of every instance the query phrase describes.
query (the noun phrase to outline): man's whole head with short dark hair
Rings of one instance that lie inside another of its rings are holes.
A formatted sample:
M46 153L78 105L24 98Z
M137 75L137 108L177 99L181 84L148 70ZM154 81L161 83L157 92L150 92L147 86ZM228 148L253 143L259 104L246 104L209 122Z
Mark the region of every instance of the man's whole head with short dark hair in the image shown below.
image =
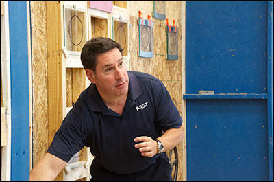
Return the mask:
M103 99L127 95L129 77L121 46L110 38L93 38L84 45L81 59L90 82Z

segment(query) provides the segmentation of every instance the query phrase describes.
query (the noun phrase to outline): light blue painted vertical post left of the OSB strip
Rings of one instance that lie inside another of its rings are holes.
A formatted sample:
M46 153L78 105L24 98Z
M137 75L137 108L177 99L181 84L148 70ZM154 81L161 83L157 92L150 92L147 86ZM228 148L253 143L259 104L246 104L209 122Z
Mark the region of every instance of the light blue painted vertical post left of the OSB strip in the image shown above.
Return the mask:
M9 1L11 181L29 181L29 71L26 1Z

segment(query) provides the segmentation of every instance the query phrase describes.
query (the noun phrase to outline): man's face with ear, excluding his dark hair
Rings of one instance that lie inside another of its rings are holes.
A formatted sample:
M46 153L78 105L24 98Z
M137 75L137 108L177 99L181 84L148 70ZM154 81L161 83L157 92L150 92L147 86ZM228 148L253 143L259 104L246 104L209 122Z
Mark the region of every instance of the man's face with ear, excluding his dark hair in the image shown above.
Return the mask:
M121 52L114 48L97 56L96 73L86 69L91 82L96 84L100 95L119 97L127 94L129 78Z

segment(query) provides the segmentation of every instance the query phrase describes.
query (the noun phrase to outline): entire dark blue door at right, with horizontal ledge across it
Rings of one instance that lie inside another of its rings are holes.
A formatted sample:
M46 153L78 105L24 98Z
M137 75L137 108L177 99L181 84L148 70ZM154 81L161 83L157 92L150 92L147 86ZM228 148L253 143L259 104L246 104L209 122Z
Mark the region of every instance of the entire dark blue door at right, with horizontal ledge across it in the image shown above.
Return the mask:
M188 181L273 181L273 2L186 1Z

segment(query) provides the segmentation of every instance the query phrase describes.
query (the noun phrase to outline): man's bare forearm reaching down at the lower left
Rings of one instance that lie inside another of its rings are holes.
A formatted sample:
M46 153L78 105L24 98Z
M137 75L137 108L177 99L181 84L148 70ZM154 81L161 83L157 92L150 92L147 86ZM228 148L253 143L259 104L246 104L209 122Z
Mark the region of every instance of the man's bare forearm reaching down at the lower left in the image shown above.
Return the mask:
M64 166L66 161L46 153L29 173L29 181L54 181Z

